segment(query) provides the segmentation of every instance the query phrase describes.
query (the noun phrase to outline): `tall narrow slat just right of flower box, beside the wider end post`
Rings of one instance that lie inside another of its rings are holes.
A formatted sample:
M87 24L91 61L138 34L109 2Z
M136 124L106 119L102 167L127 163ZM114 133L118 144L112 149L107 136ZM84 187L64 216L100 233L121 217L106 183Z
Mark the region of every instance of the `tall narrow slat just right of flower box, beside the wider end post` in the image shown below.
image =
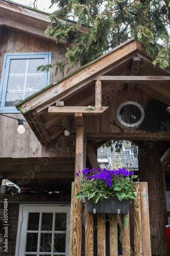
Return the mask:
M135 256L144 256L144 254L143 254L143 246L142 246L140 183L137 183L137 185L135 186L135 192L137 193L136 199L133 200L133 222L134 222Z

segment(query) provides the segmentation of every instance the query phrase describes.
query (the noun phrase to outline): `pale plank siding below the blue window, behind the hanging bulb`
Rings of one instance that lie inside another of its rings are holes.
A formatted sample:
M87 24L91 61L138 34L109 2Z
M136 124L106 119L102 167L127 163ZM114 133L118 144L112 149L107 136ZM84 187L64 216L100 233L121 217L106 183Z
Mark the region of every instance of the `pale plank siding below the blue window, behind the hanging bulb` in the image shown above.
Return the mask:
M22 114L7 114L23 118ZM58 141L41 144L27 122L24 134L17 133L17 120L0 116L0 158L59 157Z

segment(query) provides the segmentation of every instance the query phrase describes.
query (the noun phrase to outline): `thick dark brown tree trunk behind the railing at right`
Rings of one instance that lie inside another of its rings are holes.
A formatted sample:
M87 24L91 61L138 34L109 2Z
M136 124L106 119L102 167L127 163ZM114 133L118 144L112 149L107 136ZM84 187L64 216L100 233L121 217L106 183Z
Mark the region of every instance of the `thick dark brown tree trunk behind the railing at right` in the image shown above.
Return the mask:
M148 182L152 256L168 255L160 159L159 142L139 141L139 181Z

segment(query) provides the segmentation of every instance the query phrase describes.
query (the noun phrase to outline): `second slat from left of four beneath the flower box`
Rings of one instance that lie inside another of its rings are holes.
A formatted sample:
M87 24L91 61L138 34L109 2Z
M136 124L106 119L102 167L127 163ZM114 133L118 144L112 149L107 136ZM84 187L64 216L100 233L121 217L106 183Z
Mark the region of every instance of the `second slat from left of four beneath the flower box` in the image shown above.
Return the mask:
M106 256L106 218L98 214L98 256Z

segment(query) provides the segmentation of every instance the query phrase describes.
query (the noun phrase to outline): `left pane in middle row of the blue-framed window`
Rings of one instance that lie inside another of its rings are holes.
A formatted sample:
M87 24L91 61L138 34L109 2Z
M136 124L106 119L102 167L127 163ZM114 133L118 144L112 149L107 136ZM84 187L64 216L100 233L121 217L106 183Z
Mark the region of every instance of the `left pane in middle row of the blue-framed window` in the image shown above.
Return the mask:
M24 84L25 84L25 76L9 76L8 78L8 90L23 90L24 89Z

